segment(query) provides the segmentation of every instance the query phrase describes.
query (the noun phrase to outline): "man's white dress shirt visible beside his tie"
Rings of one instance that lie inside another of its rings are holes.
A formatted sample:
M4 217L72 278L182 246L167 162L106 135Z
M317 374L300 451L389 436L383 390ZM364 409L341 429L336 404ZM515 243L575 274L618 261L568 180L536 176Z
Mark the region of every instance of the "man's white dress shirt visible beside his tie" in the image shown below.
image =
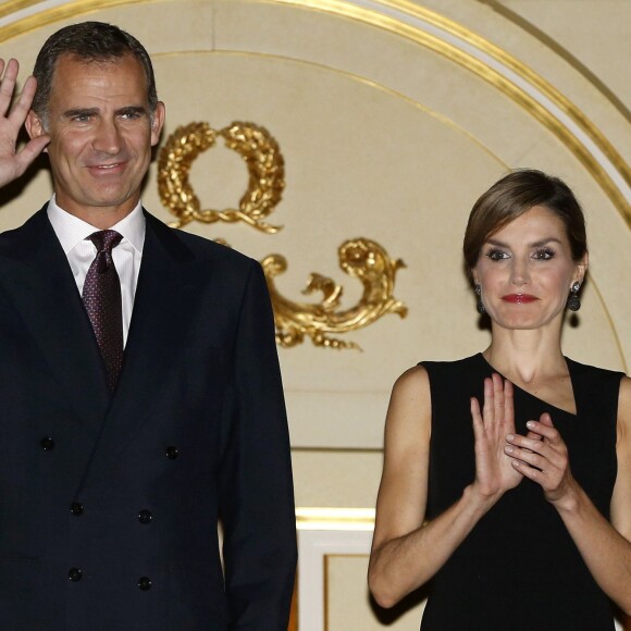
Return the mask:
M87 237L101 228L95 227L60 208L54 195L48 202L48 219L67 257L79 295L83 295L86 274L97 256L95 244ZM121 280L123 344L126 344L138 273L140 272L143 246L145 245L145 215L141 203L138 202L138 206L127 216L110 230L115 230L123 236L121 243L112 250L112 258Z

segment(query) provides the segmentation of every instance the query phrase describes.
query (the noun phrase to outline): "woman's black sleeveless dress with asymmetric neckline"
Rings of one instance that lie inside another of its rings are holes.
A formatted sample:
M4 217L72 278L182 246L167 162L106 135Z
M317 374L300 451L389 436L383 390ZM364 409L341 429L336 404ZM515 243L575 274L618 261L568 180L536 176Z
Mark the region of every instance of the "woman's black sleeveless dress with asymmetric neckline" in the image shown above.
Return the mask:
M515 387L516 429L549 412L572 474L608 519L621 373L567 359L577 416ZM494 372L479 354L423 362L432 394L428 517L456 503L475 465L469 400ZM555 508L524 479L478 522L430 584L422 631L611 631L614 616Z

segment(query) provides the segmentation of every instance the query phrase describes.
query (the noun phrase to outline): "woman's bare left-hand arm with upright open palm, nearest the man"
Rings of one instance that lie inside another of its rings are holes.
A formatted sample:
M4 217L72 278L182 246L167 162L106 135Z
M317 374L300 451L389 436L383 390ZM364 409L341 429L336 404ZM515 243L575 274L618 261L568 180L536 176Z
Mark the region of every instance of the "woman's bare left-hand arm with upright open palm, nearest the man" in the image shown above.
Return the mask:
M506 434L515 432L511 384L503 384L498 375L485 380L483 411L472 399L471 412L475 480L456 504L423 523L432 424L429 378L424 368L417 367L395 383L368 578L374 598L384 607L426 582L481 517L522 480L503 453Z

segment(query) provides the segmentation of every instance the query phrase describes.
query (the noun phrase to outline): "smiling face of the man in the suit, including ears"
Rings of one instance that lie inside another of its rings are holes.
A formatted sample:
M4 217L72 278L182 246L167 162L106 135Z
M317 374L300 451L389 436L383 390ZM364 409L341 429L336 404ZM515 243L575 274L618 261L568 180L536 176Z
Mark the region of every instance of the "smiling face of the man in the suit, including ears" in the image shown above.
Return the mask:
M48 120L45 131L32 112L27 129L32 136L50 135L58 205L95 225L104 218L113 225L127 215L140 197L164 122L162 103L150 116L140 62L132 55L88 63L60 57Z

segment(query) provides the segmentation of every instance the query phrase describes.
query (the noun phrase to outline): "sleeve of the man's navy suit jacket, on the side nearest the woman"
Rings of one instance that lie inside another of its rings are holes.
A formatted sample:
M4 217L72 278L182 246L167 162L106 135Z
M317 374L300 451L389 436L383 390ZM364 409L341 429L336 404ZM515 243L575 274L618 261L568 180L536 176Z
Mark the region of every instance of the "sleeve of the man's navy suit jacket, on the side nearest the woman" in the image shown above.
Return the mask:
M270 297L253 261L222 422L220 518L231 630L286 631L297 557L289 437Z

